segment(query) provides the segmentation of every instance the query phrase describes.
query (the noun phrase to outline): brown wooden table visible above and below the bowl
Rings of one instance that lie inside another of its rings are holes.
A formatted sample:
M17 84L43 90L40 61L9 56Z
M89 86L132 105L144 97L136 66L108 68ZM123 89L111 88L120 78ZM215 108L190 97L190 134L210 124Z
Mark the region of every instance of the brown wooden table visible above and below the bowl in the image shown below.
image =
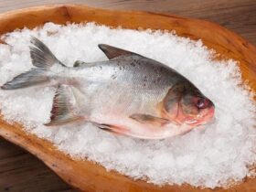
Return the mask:
M0 12L57 3L80 3L202 18L227 27L256 45L256 0L0 0ZM0 138L0 191L75 190L37 158Z

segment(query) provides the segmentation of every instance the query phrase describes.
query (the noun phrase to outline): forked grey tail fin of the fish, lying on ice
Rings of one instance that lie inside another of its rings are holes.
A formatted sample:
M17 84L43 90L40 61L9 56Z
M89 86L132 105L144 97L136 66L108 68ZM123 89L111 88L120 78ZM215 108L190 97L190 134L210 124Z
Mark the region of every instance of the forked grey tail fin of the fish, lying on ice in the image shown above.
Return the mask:
M1 86L2 90L16 90L30 87L41 83L47 83L50 80L50 68L53 65L66 67L57 59L48 47L36 37L31 37L33 47L30 48L30 58L36 68L21 73L13 80L7 81Z

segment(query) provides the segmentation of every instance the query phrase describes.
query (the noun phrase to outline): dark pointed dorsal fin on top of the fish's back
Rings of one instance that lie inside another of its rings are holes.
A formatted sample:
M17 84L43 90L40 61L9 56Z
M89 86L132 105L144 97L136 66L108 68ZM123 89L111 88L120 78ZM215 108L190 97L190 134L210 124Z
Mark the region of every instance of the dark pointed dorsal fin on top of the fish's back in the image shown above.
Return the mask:
M128 54L138 55L131 51L123 50L122 48L115 48L106 44L99 44L98 47L101 48L101 50L105 53L108 59L113 59L113 58L123 56L123 55L128 55Z

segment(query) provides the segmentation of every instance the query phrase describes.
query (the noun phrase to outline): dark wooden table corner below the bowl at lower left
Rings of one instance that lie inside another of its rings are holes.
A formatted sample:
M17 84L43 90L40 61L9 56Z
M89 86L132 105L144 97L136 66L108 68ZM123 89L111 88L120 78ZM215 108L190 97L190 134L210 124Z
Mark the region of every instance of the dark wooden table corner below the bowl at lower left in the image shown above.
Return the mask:
M33 155L3 139L0 148L0 191L71 191Z

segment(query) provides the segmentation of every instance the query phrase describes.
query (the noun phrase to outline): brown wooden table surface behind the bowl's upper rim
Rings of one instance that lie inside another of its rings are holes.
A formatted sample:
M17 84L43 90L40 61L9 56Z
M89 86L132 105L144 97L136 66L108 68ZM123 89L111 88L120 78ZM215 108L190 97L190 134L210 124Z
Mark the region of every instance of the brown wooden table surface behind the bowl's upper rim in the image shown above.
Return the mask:
M1 0L0 12L35 5L79 3L118 10L150 11L218 23L256 45L255 0Z

